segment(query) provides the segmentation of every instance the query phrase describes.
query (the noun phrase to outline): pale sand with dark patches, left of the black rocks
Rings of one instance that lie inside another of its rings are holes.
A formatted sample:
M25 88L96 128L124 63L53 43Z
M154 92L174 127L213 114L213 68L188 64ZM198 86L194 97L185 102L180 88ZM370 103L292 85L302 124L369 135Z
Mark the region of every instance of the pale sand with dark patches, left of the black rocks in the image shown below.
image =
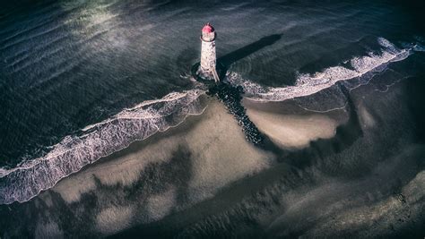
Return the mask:
M50 197L57 193L65 204L82 209L87 195L93 195L95 231L110 235L186 209L274 164L273 154L245 140L220 102L205 97L204 104L204 114L100 159L38 200L54 209Z

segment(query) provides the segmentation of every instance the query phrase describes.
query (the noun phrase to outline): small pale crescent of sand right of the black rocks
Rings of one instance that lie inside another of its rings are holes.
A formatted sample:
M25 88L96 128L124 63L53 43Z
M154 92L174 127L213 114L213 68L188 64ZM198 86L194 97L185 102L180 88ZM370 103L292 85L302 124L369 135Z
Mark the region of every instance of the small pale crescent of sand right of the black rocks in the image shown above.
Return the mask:
M247 115L261 132L282 149L302 149L310 141L330 139L336 127L347 121L345 109L309 112L294 101L262 103L245 99Z

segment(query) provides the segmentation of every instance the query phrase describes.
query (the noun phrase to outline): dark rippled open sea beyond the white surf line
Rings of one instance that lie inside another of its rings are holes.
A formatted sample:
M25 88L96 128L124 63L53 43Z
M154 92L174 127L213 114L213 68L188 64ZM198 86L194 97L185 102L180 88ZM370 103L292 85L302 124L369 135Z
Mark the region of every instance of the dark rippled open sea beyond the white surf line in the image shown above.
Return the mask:
M0 21L2 164L43 155L125 107L191 88L179 75L198 60L205 21L218 30L219 56L242 48L230 58L232 71L281 87L379 51L377 38L414 42L409 20L380 3L56 1L11 9ZM273 35L279 39L262 45Z

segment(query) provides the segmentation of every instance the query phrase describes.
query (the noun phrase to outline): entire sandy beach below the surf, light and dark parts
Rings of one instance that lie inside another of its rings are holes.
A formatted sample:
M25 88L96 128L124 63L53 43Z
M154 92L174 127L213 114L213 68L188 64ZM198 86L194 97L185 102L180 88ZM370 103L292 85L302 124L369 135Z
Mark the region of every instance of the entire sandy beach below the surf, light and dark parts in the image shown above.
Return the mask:
M420 108L419 82L363 86L326 113L244 100L280 146L273 152L248 143L227 109L204 97L204 114L0 208L11 215L4 228L56 238L419 235L425 149L415 131L422 116L410 112Z

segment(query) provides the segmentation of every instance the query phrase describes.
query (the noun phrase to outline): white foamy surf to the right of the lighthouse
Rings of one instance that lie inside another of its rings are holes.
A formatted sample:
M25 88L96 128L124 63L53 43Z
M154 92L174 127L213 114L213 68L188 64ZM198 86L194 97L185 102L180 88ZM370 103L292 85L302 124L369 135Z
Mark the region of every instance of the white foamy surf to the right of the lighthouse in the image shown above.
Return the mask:
M247 98L257 101L282 101L312 95L333 86L337 81L359 78L359 84L363 84L365 83L363 81L367 82L373 76L369 73L381 72L387 64L401 61L411 55L412 50L416 50L414 48L399 49L385 38L378 38L377 42L383 47L382 53L353 57L349 61L352 69L338 65L326 68L320 73L299 73L294 86L264 87L243 79L238 73L229 73L227 81L242 86Z

